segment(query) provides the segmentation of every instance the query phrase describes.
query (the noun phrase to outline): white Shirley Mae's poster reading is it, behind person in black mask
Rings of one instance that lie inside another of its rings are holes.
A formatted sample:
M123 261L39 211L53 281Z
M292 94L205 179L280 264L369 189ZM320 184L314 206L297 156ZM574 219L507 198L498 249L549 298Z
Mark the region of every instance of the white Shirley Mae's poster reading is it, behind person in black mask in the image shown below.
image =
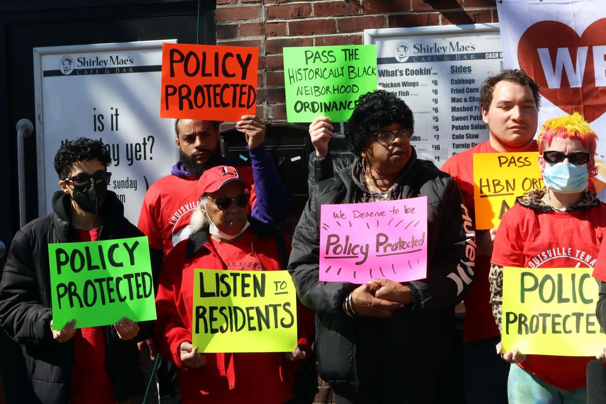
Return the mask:
M162 42L175 41L34 49L40 215L59 190L57 150L84 136L110 151L108 189L137 224L145 191L178 159L174 121L160 118Z

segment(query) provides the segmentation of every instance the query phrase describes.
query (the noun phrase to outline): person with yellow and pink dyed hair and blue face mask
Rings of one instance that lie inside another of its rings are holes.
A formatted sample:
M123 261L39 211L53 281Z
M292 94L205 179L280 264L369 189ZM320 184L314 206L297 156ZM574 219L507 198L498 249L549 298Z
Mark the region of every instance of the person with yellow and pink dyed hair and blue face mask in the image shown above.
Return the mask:
M598 135L579 113L550 119L538 138L544 188L516 199L494 239L490 303L499 329L503 267L593 268L606 228L606 205L588 179L595 175ZM501 353L501 344L497 351ZM501 353L511 366L510 403L585 402L585 369L592 357L528 355L513 347Z

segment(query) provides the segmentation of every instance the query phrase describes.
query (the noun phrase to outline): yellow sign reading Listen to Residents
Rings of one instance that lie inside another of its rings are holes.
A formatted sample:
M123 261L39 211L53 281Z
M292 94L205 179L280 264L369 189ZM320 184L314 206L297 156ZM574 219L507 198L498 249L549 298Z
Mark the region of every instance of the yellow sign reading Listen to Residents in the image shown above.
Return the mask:
M201 353L291 352L295 285L288 271L194 271L192 344Z

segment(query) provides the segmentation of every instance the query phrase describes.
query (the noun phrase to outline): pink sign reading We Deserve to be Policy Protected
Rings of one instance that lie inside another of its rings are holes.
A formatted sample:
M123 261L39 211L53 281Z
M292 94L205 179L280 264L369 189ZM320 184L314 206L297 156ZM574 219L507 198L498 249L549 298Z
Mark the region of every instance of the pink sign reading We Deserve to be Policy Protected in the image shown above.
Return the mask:
M427 197L322 205L320 280L396 282L427 274Z

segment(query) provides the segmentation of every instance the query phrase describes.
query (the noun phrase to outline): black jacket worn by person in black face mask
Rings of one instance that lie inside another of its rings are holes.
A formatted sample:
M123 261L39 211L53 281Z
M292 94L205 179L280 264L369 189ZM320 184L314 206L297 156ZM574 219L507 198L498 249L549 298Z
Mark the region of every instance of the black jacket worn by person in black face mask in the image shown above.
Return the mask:
M20 403L67 403L74 361L73 339L58 343L50 329L52 318L48 243L78 239L70 223L70 196L58 191L53 196L53 213L33 220L13 239L0 282L0 326L21 346L22 362L13 364L21 373ZM124 206L108 191L107 214L99 239L143 236L124 217ZM151 336L151 322L139 323L135 339L122 341L113 326L105 326L105 360L116 401L144 392L137 342ZM7 386L9 388L9 386Z

